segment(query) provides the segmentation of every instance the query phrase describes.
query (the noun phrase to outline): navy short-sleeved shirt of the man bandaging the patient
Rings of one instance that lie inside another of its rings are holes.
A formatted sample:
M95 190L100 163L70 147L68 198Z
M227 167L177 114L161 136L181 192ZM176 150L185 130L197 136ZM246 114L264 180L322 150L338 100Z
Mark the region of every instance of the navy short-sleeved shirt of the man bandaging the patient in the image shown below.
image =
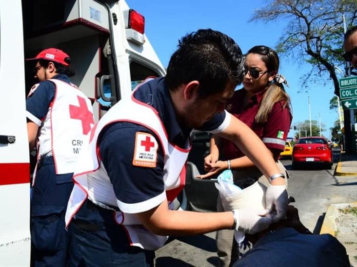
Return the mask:
M140 86L134 97L154 107L167 131L168 140L183 147L192 129L179 125L172 106L169 89L165 78L157 78ZM200 130L218 128L225 118L225 113L217 114L212 121ZM158 159L155 168L133 166L136 132L153 135L158 143ZM117 122L106 126L99 135L99 151L108 176L113 184L119 201L126 204L140 203L164 191L163 184L163 151L154 132L141 125ZM137 205L138 207L138 205ZM145 207L138 212L145 211Z

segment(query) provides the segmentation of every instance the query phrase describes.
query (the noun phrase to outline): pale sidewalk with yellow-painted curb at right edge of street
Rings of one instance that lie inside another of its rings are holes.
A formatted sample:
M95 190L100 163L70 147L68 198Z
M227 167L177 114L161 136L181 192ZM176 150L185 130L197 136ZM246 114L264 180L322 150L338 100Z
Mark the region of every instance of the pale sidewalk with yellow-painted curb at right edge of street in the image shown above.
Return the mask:
M351 176L351 181L348 183L356 186L357 176L357 155L341 154L334 173L337 176L338 182L340 179L348 179ZM341 178L338 178L341 176ZM346 178L342 178L346 177ZM357 197L355 199L357 201ZM352 266L357 266L357 202L353 203L337 203L328 206L320 234L329 233L335 236L339 242L346 248ZM344 211L349 211L348 214Z

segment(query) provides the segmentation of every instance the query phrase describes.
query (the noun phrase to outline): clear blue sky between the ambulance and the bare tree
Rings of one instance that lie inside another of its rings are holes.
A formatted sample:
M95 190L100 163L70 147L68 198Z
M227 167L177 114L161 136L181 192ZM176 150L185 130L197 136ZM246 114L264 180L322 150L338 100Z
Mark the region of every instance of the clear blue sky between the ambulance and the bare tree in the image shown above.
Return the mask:
M275 48L279 37L284 32L287 21L274 23L248 22L255 9L264 4L264 0L126 0L130 8L145 17L145 34L150 39L164 67L167 67L171 54L176 50L181 36L200 28L212 28L231 36L246 53L255 45ZM283 74L290 88L286 88L293 106L293 122L309 119L308 94L311 99L311 118L321 123L326 131L322 134L330 137L330 127L337 120L337 110L329 109L329 101L334 96L332 81L314 84L301 90L299 78L309 71L308 64L299 64L300 58L280 57L280 73ZM299 92L302 91L302 92ZM291 130L289 136L295 131Z

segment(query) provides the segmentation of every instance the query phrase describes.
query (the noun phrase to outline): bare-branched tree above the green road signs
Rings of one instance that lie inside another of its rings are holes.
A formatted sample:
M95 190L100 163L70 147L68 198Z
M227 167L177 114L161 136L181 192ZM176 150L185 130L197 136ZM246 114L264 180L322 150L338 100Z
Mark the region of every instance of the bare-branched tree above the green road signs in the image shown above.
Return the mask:
M339 95L335 66L341 68L344 64L342 14L348 27L356 24L357 0L267 0L251 21L288 20L278 41L278 53L311 64L311 70L301 77L302 86L331 78L335 94Z

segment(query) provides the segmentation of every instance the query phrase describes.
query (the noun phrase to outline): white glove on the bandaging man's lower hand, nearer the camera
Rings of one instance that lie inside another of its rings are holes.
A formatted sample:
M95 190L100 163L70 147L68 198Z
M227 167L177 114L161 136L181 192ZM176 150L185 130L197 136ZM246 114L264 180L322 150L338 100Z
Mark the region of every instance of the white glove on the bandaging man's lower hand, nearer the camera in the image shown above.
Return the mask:
M271 217L261 217L253 213L249 209L235 210L237 214L237 231L244 231L246 233L254 234L263 231L272 223Z

